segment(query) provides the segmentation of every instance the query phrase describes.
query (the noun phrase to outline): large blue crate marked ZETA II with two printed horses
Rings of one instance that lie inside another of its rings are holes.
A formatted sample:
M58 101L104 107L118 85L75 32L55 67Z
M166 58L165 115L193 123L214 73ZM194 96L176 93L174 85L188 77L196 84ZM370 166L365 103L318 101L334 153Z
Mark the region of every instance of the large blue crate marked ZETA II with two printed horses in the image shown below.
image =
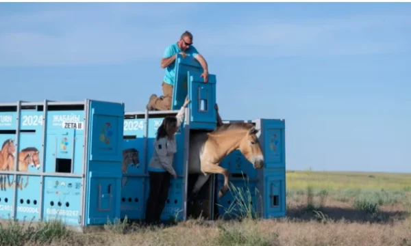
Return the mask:
M124 105L0 105L0 217L69 226L120 218Z

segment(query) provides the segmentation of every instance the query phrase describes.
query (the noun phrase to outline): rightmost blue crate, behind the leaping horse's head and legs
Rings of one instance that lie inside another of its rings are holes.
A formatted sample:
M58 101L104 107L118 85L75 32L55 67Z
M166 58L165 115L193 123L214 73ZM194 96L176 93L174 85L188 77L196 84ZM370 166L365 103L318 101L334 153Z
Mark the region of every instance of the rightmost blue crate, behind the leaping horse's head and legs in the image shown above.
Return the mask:
M228 122L238 122L227 121ZM285 122L284 120L258 119L243 122L253 122L260 130L259 142L264 156L264 167L254 169L240 151L235 150L223 159L221 166L228 169L230 182L241 187L246 197L252 195L256 200L256 213L264 218L286 216L286 152L285 152ZM216 191L223 186L224 177L217 176ZM230 185L231 186L231 185ZM239 190L229 191L229 198L225 195L219 204L219 214L236 217L238 209L244 206L234 206L233 197L241 197ZM253 198L254 199L254 198ZM235 209L234 209L235 208ZM237 210L236 210L237 209Z

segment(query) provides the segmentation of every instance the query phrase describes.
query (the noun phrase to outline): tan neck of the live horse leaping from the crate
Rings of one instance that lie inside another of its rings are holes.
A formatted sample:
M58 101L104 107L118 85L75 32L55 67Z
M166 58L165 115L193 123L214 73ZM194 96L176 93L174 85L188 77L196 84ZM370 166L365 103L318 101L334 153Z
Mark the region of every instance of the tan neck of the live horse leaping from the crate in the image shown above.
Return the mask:
M219 160L234 150L238 150L245 134L245 130L238 129L210 135L210 139L214 141L214 151L218 155Z

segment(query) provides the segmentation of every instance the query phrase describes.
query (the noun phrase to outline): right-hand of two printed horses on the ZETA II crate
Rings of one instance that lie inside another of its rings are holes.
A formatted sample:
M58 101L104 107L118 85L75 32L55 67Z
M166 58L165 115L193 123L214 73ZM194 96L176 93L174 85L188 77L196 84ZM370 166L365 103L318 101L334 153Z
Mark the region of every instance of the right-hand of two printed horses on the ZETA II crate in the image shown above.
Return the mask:
M29 169L29 165L32 167L36 167L36 169L40 168L40 158L38 156L38 150L37 148L34 147L29 147L21 150L21 152L18 153L18 166L17 170L19 172L27 172ZM14 168L14 165L13 165ZM23 189L23 182L21 181L23 179L22 176L17 176L17 182L16 184L18 185L18 188ZM24 187L27 187L29 184L29 176L27 176L27 180L25 183Z

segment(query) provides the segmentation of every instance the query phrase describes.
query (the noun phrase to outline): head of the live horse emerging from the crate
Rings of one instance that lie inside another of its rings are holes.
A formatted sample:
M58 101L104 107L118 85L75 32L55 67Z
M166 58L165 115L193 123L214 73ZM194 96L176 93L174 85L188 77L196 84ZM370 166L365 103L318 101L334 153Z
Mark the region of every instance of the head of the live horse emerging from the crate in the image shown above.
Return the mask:
M238 150L245 158L253 164L255 169L260 169L264 165L264 156L262 154L260 142L258 141L256 126L252 126L240 141Z

